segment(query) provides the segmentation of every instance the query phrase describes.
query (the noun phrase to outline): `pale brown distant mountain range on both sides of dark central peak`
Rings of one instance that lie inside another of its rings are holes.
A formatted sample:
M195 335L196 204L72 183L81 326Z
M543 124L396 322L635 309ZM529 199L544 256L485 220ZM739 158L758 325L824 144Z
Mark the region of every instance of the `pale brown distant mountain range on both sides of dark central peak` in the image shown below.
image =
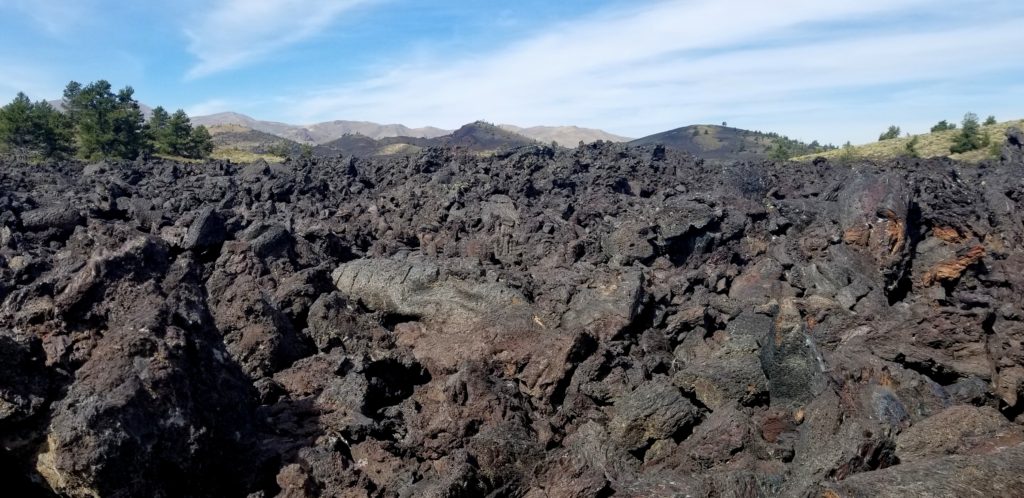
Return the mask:
M373 139L407 136L413 138L437 138L450 135L455 130L445 130L426 126L410 128L400 124L377 124L367 121L328 121L312 125L292 125L275 121L261 121L239 113L218 113L209 116L197 116L193 124L210 126L237 125L256 131L262 131L299 143L326 144L345 135L362 135ZM563 146L574 147L580 141L593 142L597 140L628 141L629 138L614 135L606 131L580 128L577 126L535 126L520 128L513 125L501 125L502 129L511 131L526 138L550 143L557 141Z

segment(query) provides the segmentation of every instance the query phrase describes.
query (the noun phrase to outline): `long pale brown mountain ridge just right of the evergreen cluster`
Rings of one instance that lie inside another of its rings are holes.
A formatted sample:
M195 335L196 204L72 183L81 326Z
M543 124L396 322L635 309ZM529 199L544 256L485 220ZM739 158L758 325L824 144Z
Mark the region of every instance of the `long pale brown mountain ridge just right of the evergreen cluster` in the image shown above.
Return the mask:
M404 125L380 125L366 121L330 121L308 126L291 125L275 121L260 121L239 113L219 113L197 116L194 124L206 126L239 125L264 133L270 133L300 143L327 143L344 135L359 134L370 138L391 136L436 137L451 133L440 128L409 128Z

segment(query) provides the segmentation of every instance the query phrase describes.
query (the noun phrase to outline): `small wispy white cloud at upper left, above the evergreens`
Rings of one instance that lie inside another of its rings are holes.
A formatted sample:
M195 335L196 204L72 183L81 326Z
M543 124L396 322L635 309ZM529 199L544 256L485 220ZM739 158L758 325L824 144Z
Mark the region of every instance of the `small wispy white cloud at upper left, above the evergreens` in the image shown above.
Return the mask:
M187 78L236 69L300 42L377 0L218 0L185 30L199 58Z

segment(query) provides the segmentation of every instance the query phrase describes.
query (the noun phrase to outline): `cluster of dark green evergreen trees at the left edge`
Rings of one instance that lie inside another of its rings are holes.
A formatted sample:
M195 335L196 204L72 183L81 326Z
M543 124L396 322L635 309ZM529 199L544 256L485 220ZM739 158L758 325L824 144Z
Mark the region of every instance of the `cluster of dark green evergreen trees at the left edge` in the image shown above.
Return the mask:
M133 160L154 152L202 159L213 152L210 132L193 127L184 111L168 115L157 108L146 121L130 86L115 93L104 80L88 85L72 81L61 103L62 113L18 93L0 108L0 149L40 157L74 153L89 160Z

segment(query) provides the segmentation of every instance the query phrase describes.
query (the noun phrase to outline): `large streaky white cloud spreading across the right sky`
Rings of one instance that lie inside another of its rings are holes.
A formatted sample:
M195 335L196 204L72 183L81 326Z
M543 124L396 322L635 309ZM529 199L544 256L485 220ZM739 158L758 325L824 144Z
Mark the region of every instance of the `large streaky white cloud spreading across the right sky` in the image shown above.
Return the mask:
M295 99L292 117L444 127L482 118L639 136L743 116L755 126L788 123L783 132L797 134L814 131L817 112L859 112L844 109L849 100L815 93L1024 69L1015 53L1024 42L1022 17L980 16L978 26L944 22L930 29L910 24L915 9L932 3L654 2L557 26L493 53L408 64L304 95ZM885 19L902 20L887 30ZM831 33L829 26L838 25L853 28ZM828 119L819 123L842 115ZM818 131L838 139L850 128Z

